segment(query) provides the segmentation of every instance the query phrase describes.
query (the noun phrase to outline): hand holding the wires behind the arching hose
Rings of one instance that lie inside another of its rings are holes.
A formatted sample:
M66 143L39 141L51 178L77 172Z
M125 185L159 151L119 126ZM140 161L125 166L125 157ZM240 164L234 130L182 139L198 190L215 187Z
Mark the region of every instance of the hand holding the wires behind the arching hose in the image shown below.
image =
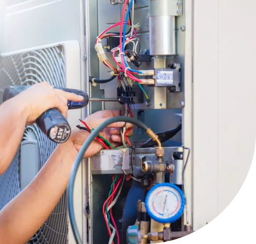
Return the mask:
M88 116L84 119L84 122L88 125L90 128L96 128L98 125L100 125L102 122L106 121L108 118L121 116L120 110L101 110L96 113L93 113L92 115ZM84 127L84 124L79 123L80 126ZM125 122L116 122L108 127L106 127L100 135L103 136L107 141L109 141L114 147L120 146L122 139L121 139L121 127L125 125ZM133 125L130 123L126 123L126 129L129 130L132 128ZM130 137L132 136L133 131L129 131L126 136ZM74 127L72 129L72 135L70 136L70 139L73 141L74 147L77 150L77 152L80 150L81 146L83 145L84 141L87 139L89 135L88 131L80 130L77 127ZM101 143L99 143L97 140L94 140L91 145L88 147L88 150L84 154L84 158L90 158L94 154L97 154L101 149L103 149L103 146Z

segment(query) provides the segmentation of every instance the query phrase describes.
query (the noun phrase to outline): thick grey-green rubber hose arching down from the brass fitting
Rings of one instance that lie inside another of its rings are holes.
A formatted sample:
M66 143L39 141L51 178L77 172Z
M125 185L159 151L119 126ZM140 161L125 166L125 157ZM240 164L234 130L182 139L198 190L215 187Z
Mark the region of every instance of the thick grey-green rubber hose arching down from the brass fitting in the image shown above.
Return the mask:
M104 121L92 133L90 133L87 140L84 141L84 143L81 146L81 148L77 154L77 157L75 158L74 163L72 165L71 172L70 172L69 186L68 186L68 210L69 210L69 216L70 216L70 224L71 224L71 228L73 230L74 238L75 238L77 244L82 244L82 239L79 235L79 230L78 230L78 227L77 227L77 224L75 221L75 217L74 217L74 181L75 181L75 178L77 175L77 171L78 171L79 165L84 157L85 151L88 149L89 145L93 142L93 140L98 135L98 133L100 133L108 125L111 125L112 123L115 123L115 122L128 122L135 126L140 127L145 132L151 131L150 128L146 124L144 124L143 122L141 122L139 120L136 120L132 117L118 116L118 117L109 118L106 121ZM120 183L119 183L119 185L120 185ZM117 187L116 187L115 191L116 190L117 190ZM107 200L109 200L109 199L107 199ZM105 206L103 208L103 211L104 211L104 209L105 209ZM107 222L106 216L104 216L104 217L105 217L105 221Z

